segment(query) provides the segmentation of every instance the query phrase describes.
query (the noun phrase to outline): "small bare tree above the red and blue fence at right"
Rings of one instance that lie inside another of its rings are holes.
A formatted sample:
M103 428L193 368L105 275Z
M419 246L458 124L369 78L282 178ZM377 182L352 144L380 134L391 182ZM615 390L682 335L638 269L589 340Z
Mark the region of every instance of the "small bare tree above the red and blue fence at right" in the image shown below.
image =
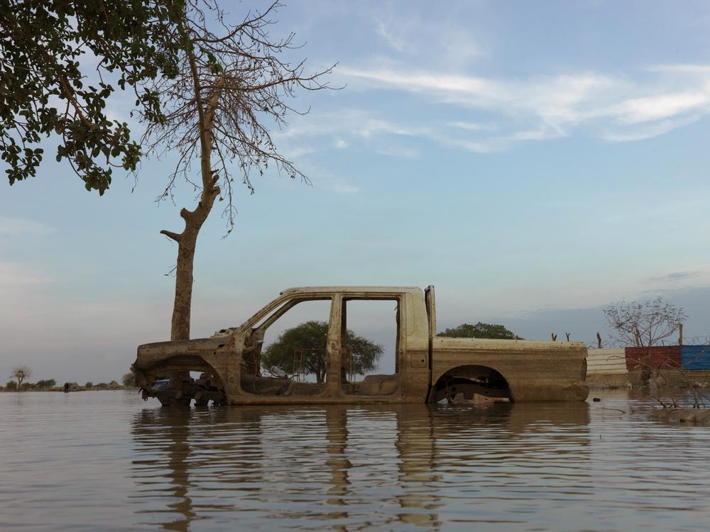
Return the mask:
M657 297L651 301L621 301L604 309L615 339L623 345L651 347L669 338L688 317L682 309Z

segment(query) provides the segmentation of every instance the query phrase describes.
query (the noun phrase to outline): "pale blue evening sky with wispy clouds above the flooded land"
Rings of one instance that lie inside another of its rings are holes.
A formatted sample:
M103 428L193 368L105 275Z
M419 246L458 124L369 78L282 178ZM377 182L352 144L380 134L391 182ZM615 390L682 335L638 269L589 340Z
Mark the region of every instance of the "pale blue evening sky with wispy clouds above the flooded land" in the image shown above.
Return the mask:
M286 4L272 35L294 31L294 58L337 64L342 88L299 93L310 112L271 129L312 185L267 172L238 189L231 235L219 204L202 228L193 337L332 284L434 284L439 329L586 343L608 338L603 306L662 295L686 336L710 335L710 4ZM128 120L130 99L108 109ZM169 158L89 193L46 147L36 177L0 182L0 380L20 364L119 379L170 336L176 247L159 231L182 229L195 194L155 202ZM390 312L354 326L391 350Z

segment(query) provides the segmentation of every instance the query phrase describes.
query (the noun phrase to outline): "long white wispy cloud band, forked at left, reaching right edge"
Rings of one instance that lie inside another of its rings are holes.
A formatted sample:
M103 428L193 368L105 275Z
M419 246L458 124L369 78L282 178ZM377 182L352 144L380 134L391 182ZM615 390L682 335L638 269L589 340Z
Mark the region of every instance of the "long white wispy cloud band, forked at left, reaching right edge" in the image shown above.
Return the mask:
M280 135L302 139L329 136L330 148L362 144L381 155L411 159L422 149L417 139L474 153L510 150L519 143L564 138L580 132L612 143L663 135L710 113L710 66L662 65L648 72L657 79L600 72L496 79L410 70L386 62L377 67L339 68L354 89L388 89L416 94L457 109L457 120L408 114L403 118L361 109L315 113ZM679 74L681 72L682 74ZM404 122L405 121L405 122ZM399 139L399 140L396 140ZM315 144L309 141L308 150Z

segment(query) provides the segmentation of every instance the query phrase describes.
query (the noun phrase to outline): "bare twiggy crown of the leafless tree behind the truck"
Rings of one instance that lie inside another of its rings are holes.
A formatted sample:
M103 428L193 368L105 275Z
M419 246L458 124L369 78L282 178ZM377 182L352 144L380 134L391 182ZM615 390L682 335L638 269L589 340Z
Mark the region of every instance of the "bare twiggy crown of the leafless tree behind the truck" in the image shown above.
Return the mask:
M151 83L153 92L160 94L164 120L148 119L144 143L151 153L178 155L161 198L171 196L175 179L183 177L197 189L226 199L228 231L236 214L234 177L252 193L253 174L263 175L269 165L307 181L278 152L270 126L283 128L290 112L301 113L289 100L297 89L327 87L320 80L332 67L306 73L305 60L289 62L288 52L300 48L294 43L295 34L283 38L270 34L281 6L274 1L263 12L250 11L231 25L218 1L187 0L179 23L170 26L170 40L182 43L178 72ZM197 160L202 182L191 177Z

